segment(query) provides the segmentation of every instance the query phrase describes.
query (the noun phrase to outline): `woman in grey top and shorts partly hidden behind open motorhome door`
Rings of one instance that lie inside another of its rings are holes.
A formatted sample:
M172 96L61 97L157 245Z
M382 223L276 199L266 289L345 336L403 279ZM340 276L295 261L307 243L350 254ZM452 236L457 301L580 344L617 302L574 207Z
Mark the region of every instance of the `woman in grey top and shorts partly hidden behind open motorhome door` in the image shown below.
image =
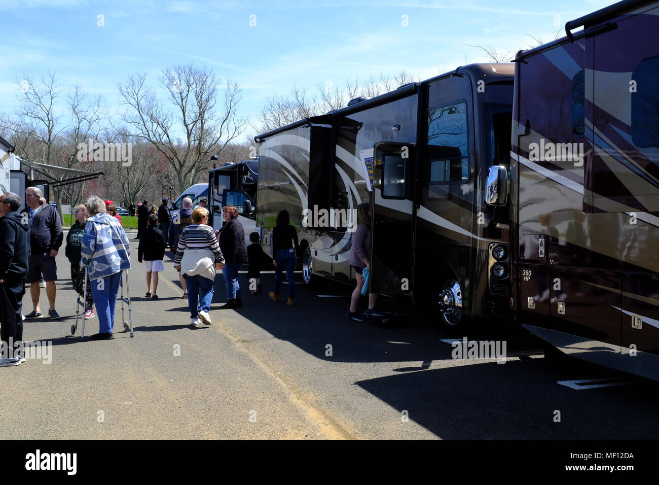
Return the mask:
M358 205L357 229L355 229L355 232L353 233L353 244L350 247L350 255L348 258L349 263L357 272L357 275L355 275L357 278L357 286L355 286L355 290L353 290L353 296L350 300L350 309L347 313L349 319L356 321L364 320L362 315L357 313L357 304L359 302L359 297L362 294L362 287L364 286L364 276L362 276L362 271L364 271L364 268L368 268L368 271L370 271L371 216L372 212L368 203ZM368 310L366 311L366 316L377 317L380 315L380 313L374 309L377 299L377 293L368 294Z

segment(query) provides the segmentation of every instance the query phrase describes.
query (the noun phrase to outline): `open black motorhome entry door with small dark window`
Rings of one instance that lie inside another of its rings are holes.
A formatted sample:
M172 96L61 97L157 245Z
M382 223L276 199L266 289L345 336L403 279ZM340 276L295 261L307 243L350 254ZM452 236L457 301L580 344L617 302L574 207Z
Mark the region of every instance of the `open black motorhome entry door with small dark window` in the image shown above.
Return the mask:
M374 146L369 291L412 293L414 143Z

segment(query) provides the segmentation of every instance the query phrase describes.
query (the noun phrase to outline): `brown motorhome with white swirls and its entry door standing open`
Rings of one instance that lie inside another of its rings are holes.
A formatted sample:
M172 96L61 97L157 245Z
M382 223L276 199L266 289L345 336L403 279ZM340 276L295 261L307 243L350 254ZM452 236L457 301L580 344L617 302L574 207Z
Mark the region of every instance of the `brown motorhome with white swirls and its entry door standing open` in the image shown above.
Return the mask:
M287 209L304 281L349 283L351 219L341 216L370 202L371 292L397 308L432 306L449 328L505 315L507 207L486 206L484 186L490 166L508 164L512 88L512 64L469 65L258 135L264 249Z

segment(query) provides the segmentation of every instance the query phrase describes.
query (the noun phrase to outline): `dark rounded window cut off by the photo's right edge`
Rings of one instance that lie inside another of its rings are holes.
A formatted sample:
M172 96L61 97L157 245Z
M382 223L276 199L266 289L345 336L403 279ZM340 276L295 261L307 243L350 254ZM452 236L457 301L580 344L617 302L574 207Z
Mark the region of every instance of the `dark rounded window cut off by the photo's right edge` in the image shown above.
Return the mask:
M659 146L659 57L643 61L634 69L631 87L631 139L639 148ZM630 87L630 90L631 90Z

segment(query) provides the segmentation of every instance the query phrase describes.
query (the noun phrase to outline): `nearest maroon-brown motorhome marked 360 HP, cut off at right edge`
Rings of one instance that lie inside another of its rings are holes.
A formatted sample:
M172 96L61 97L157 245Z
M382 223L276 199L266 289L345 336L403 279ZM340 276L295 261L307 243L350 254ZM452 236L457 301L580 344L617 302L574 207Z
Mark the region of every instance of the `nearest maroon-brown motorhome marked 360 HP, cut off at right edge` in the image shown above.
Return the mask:
M565 354L659 379L659 3L566 34L515 59L515 317ZM495 205L505 171L490 170Z

